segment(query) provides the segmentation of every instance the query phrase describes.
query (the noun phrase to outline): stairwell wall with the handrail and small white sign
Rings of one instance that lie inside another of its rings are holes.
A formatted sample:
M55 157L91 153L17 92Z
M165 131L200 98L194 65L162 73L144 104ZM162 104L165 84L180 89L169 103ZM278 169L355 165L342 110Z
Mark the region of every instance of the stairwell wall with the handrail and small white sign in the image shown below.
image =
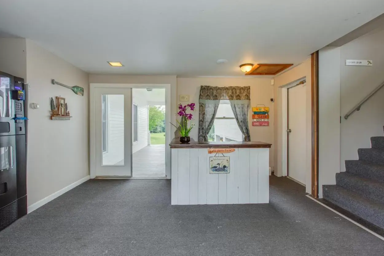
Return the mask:
M384 89L377 91L348 120L344 115L384 81L384 30L370 33L340 47L341 144L344 160L357 160L358 148L370 148L372 136L384 136ZM346 59L372 60L372 66L345 66Z

